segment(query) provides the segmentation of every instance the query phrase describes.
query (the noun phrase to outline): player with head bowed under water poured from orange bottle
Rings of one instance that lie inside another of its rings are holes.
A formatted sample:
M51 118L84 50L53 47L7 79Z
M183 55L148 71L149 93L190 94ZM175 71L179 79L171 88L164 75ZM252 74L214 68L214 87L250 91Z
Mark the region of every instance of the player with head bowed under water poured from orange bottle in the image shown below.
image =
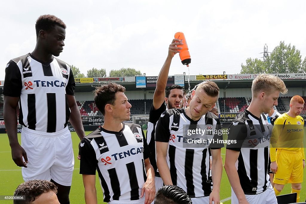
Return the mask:
M196 204L220 202L224 144L218 142L223 141L220 120L208 112L218 96L215 82L204 81L192 91L188 108L163 112L156 126L157 166L163 183L181 187ZM212 190L208 148L212 154Z

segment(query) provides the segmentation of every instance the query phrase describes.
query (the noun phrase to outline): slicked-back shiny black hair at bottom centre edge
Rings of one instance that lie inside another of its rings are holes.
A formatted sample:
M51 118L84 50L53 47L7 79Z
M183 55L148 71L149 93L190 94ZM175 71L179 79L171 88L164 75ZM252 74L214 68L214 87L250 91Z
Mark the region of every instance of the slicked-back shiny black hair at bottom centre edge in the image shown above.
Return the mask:
M166 185L157 191L155 195L155 204L190 204L191 198L180 187L174 185Z

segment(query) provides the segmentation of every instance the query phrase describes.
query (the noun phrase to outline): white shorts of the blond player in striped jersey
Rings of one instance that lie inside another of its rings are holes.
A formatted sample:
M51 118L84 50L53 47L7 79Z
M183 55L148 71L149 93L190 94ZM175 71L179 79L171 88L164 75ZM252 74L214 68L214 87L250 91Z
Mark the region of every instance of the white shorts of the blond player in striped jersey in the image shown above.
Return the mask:
M250 204L277 204L275 192L270 185L266 191L256 195L245 195L245 198ZM236 197L232 188L232 204L238 204L238 198Z

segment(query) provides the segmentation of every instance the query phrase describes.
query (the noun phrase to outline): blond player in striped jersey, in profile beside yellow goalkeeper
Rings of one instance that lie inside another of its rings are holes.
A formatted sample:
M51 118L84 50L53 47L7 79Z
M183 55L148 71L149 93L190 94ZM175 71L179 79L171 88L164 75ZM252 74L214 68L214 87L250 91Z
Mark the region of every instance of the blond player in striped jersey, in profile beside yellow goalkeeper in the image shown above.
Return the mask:
M252 102L230 124L224 168L232 187L233 204L277 204L268 174L270 134L263 113L277 105L279 93L287 93L284 82L261 74L252 83Z

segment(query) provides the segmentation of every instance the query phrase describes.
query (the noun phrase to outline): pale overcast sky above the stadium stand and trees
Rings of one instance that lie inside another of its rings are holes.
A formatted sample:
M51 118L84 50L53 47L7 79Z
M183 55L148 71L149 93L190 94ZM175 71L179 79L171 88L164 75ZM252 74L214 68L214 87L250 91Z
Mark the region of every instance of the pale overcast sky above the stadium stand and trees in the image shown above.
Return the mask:
M241 63L261 58L280 41L306 56L306 1L53 0L0 2L0 80L10 59L32 52L35 21L61 18L66 28L58 57L81 73L122 67L157 76L176 32L183 32L191 55L189 70L177 55L169 75L238 74ZM262 59L262 58L261 58Z

